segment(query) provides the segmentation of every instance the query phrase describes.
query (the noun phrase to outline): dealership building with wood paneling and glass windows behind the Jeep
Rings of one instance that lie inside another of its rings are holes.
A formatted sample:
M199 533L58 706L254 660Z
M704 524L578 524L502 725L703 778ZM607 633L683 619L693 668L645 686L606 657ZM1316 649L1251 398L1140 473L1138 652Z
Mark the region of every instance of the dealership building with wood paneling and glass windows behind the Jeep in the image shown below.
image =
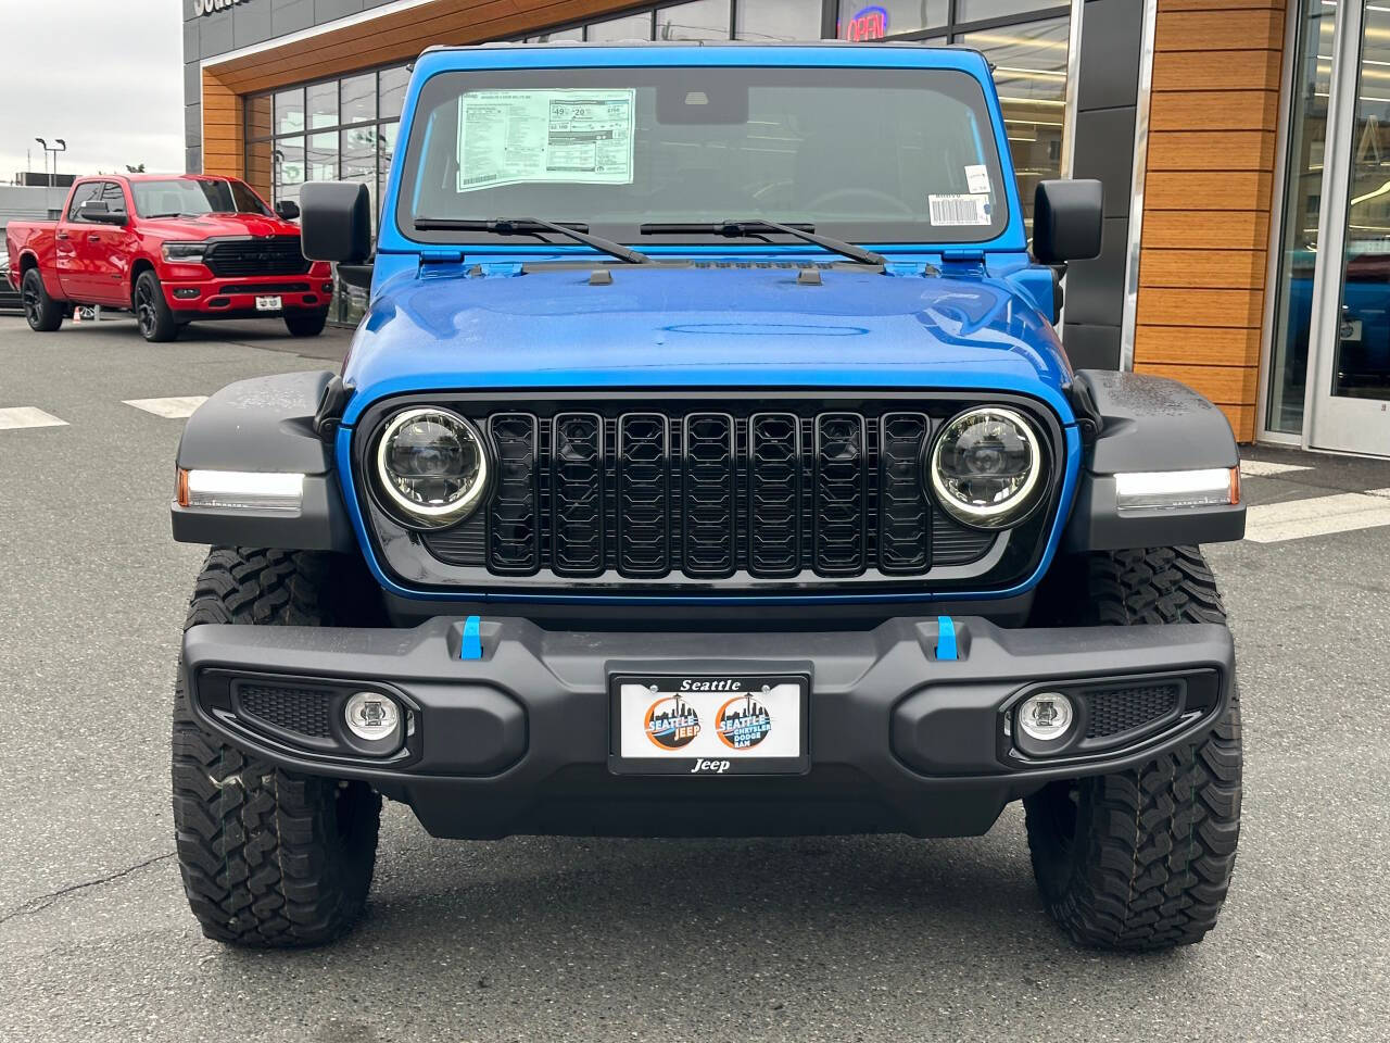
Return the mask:
M1077 367L1241 441L1390 455L1390 7L1368 0L182 0L188 170L377 197L411 60L489 40L920 40L995 67L1020 192L1105 184ZM794 146L788 146L794 147ZM361 299L341 295L338 318Z

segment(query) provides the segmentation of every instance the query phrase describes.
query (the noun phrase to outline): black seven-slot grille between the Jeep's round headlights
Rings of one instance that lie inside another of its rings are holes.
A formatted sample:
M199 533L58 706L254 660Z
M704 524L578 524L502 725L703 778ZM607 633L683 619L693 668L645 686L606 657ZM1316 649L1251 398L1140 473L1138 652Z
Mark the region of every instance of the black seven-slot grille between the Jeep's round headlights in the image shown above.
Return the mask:
M496 484L471 519L421 537L446 565L575 579L910 577L976 562L995 540L923 496L934 423L923 412L575 407L478 423Z

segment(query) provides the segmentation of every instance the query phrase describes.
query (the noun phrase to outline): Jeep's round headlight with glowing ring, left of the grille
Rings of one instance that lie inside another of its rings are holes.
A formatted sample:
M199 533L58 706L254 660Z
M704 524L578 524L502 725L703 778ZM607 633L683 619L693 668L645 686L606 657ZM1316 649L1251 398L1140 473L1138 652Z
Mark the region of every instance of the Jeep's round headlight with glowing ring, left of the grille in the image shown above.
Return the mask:
M414 526L467 517L488 487L488 452L471 423L448 409L407 409L377 441L377 478L388 505Z

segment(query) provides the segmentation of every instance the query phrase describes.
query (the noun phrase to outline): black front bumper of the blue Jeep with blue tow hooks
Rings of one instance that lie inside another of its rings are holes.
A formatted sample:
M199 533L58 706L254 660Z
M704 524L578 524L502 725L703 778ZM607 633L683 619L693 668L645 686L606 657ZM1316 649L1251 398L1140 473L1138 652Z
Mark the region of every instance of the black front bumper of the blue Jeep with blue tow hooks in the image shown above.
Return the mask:
M430 832L460 837L970 836L1049 780L1123 770L1193 741L1232 698L1223 626L1005 630L965 617L954 630L951 659L935 617L783 634L546 631L496 619L481 624L481 658L461 659L461 619L410 630L204 624L183 637L183 670L193 713L232 745L288 770L368 780ZM808 676L809 770L610 772L609 679L670 673ZM267 725L245 711L239 686L278 686L306 708L321 700L332 722L353 691L384 691L409 708L411 734L371 758L348 748L336 723L299 726L317 737ZM1109 740L1048 757L1011 737L1009 711L1030 691L1062 690L1087 706L1145 686L1173 686L1172 706L1147 720L1120 713L1130 727Z

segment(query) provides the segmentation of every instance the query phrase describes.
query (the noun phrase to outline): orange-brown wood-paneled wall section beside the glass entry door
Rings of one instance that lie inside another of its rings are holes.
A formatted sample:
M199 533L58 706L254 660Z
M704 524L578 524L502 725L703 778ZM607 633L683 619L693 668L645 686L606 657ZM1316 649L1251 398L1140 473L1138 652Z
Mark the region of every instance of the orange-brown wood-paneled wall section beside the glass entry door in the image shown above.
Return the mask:
M1134 370L1255 437L1282 0L1158 0Z

